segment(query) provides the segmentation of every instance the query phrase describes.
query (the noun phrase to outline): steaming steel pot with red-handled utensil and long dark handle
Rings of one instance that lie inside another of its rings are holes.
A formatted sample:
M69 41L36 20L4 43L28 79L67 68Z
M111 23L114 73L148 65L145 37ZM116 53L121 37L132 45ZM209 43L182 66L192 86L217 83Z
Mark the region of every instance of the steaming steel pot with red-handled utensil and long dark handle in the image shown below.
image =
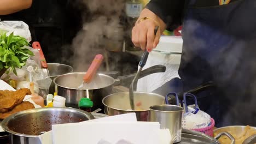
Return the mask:
M141 71L139 78L153 73L164 72L165 69L166 67L164 65L155 65ZM104 105L102 104L102 99L113 93L113 86L118 86L120 83L124 83L124 81L131 82L135 76L135 74L131 74L114 79L105 74L96 74L94 80L86 83L83 88L78 88L83 82L84 75L85 73L69 73L57 76L54 79L55 92L66 98L66 106L78 107L78 101L80 98L86 97L86 89L89 89L89 97L94 102L92 110L98 108L103 110Z

